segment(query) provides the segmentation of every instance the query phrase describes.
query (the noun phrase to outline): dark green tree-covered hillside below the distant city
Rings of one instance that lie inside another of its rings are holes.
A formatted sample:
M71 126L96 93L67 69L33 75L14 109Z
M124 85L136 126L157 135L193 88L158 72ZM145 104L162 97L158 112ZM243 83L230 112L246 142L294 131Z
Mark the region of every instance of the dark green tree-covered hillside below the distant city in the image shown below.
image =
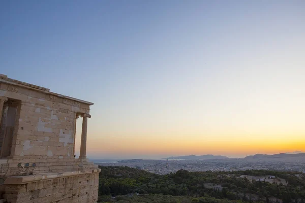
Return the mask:
M305 203L305 176L291 172L188 172L157 175L124 166L100 166L101 202L298 202ZM273 176L272 181L251 178ZM281 182L282 180L282 182ZM284 183L284 184L283 184ZM114 197L115 198L111 198Z

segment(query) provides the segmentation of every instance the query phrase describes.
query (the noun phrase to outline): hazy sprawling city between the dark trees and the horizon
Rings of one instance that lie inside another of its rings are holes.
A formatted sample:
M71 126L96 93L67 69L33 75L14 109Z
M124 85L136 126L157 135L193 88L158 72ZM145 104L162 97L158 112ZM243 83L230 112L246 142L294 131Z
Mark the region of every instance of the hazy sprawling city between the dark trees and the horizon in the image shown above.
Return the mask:
M95 164L101 166L128 166L145 170L150 173L165 175L175 173L179 170L189 172L233 172L246 170L270 170L282 172L305 173L305 154L297 159L284 160L253 160L246 158L228 159L207 159L207 160L149 160L149 159L128 159L120 161L99 162Z

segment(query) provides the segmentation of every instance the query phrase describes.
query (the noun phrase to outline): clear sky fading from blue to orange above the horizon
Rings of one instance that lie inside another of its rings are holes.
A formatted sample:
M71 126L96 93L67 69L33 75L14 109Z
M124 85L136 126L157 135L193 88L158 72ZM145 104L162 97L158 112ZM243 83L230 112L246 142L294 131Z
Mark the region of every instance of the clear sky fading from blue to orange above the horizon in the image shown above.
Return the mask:
M304 11L302 0L0 1L0 73L95 103L92 158L304 151Z

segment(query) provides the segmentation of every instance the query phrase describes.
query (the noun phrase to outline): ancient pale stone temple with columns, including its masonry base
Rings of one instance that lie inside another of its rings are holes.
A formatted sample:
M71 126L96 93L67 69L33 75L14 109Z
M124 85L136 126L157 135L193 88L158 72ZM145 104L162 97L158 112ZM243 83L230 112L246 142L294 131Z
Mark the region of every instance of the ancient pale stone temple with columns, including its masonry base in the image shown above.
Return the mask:
M100 170L86 158L90 105L0 75L0 202L97 201Z

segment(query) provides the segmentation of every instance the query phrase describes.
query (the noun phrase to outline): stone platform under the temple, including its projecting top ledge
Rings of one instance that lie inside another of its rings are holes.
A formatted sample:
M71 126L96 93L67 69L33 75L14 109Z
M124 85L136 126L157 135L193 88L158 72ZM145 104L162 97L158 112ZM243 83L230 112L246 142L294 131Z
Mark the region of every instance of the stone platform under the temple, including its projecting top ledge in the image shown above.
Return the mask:
M8 202L96 202L99 171L12 176L2 185Z

